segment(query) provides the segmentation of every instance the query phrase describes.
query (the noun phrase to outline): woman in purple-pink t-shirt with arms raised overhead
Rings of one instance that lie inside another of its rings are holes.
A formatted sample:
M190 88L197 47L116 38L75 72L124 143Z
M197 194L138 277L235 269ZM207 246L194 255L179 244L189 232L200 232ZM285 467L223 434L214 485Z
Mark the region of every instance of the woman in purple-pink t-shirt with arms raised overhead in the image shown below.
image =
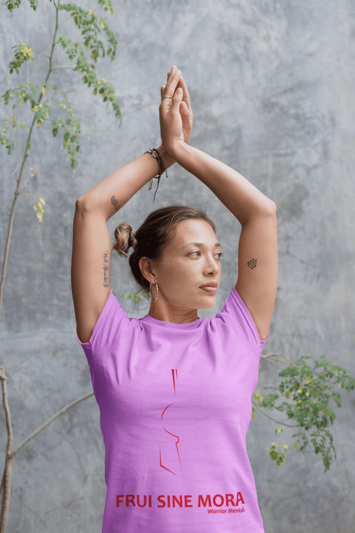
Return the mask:
M199 207L157 209L136 232L115 230L112 249L127 256L133 246L131 272L152 296L145 317L128 318L110 289L106 222L152 180L157 160L145 153L77 200L72 294L105 445L102 531L261 533L245 435L276 297L276 205L187 144L192 110L176 66L161 97L164 165L198 177L242 225L238 280L221 312L200 319L221 279L216 227Z

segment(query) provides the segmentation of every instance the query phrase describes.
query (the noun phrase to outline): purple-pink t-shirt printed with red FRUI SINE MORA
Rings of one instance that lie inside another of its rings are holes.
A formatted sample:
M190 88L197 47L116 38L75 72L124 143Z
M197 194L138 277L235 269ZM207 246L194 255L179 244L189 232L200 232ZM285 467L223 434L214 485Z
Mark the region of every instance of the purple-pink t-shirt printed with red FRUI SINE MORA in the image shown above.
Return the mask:
M261 341L235 287L215 318L129 318L82 343L100 408L102 533L263 533L245 435Z

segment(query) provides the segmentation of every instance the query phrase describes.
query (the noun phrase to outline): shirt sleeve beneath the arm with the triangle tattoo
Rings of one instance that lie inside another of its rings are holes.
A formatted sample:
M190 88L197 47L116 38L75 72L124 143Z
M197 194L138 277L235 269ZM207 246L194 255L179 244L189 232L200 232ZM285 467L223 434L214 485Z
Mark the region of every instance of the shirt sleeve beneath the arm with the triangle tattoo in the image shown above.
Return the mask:
M263 346L269 340L270 330L266 340L262 341L259 337L257 326L235 287L226 298L226 303L221 312L216 314L216 318L222 319L228 326L232 327L240 340L253 350L258 357L260 356Z

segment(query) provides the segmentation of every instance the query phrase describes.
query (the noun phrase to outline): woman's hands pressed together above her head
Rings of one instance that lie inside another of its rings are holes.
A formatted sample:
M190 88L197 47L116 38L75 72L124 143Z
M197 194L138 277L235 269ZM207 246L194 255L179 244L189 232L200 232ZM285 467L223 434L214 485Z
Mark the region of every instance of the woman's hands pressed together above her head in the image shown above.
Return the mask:
M188 143L193 123L187 87L181 71L175 65L168 72L168 83L160 87L160 93L161 98L163 95L172 96L172 99L162 98L159 117L162 146L173 157L172 152L179 143Z

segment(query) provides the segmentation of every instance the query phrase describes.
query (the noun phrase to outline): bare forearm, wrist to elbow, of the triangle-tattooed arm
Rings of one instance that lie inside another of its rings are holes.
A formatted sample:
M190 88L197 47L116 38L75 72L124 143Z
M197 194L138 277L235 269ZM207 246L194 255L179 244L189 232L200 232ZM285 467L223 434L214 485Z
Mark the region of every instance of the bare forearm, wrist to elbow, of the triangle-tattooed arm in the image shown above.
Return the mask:
M169 150L169 155L199 178L227 209L245 225L255 216L276 212L276 204L239 172L186 143Z

